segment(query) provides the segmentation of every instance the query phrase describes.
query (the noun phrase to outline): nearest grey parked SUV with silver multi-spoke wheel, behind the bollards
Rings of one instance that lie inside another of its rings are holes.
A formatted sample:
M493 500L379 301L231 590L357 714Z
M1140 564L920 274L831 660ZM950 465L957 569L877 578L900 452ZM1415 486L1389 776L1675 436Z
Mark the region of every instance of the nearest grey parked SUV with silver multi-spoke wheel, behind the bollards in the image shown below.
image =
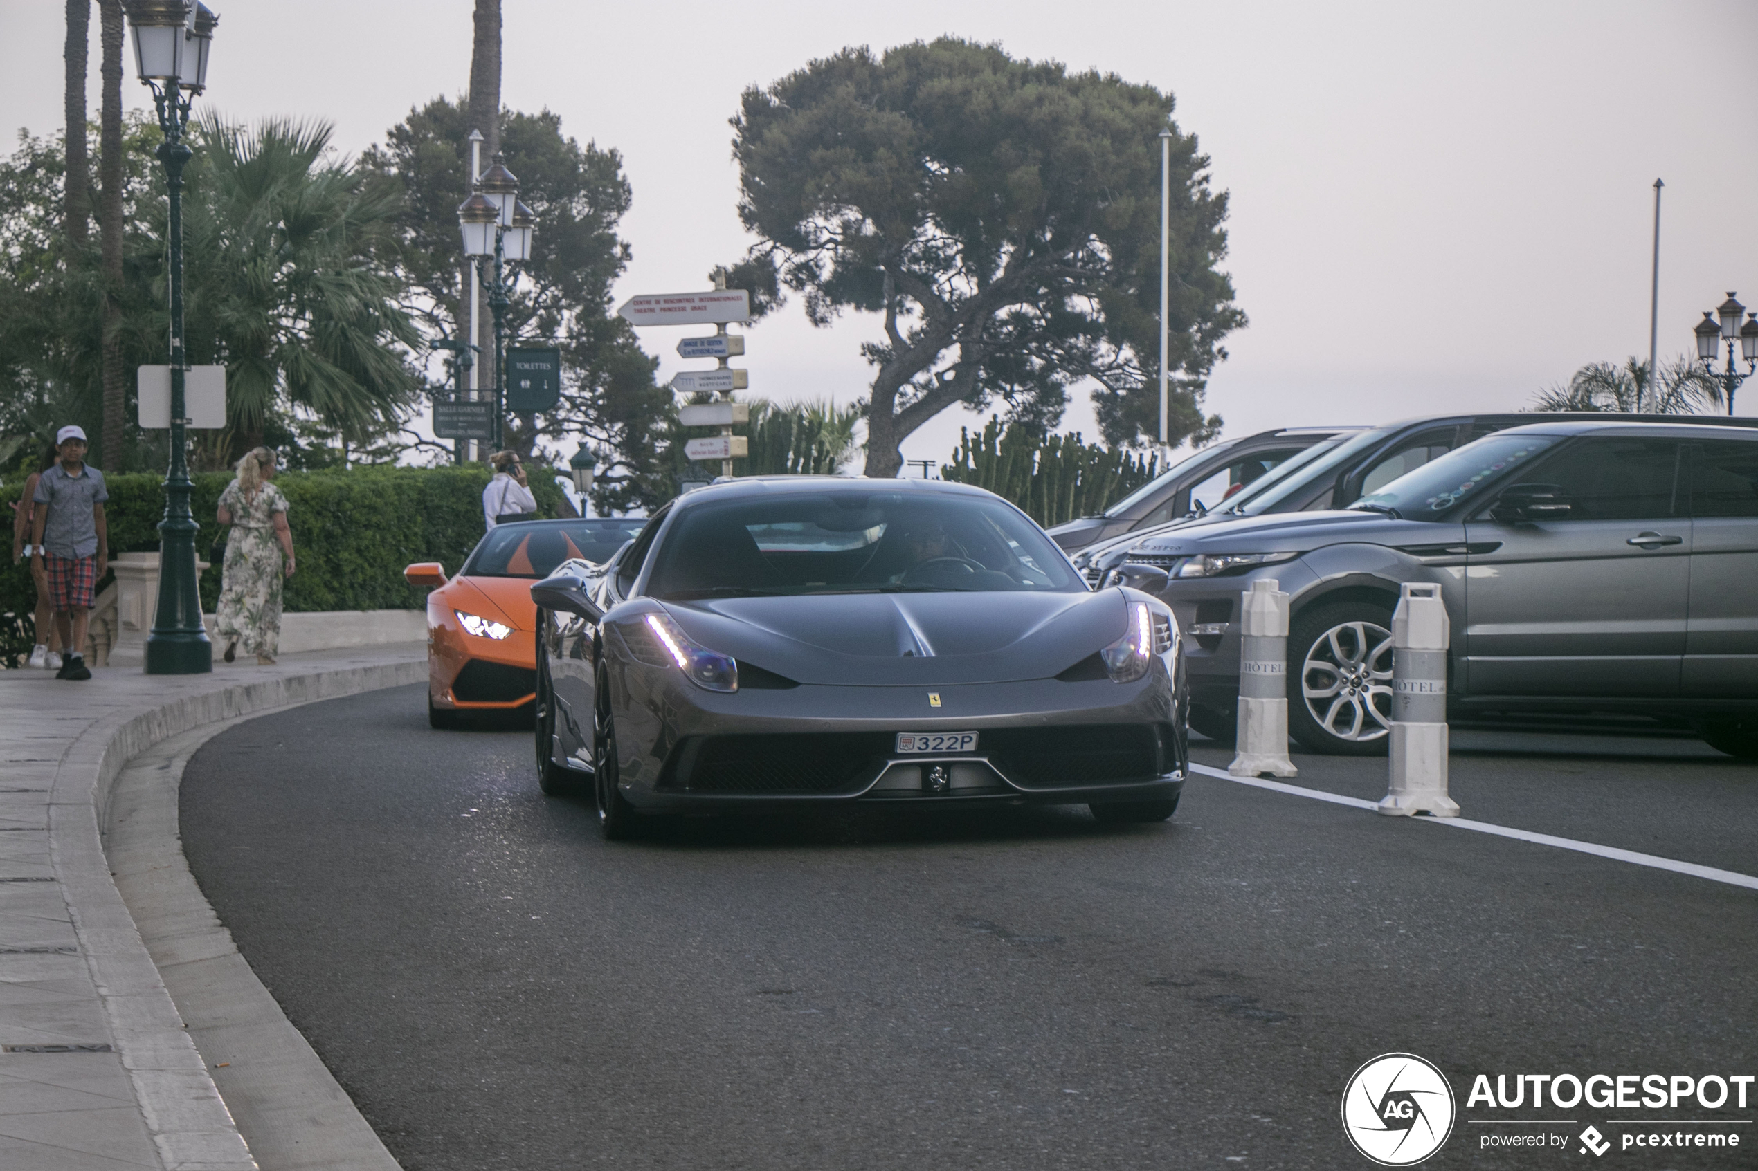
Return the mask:
M1433 581L1456 715L1672 713L1758 757L1758 420L1500 430L1348 509L1176 528L1130 560L1171 574L1204 736L1232 732L1239 593L1275 578L1292 595L1289 730L1384 751L1398 588Z

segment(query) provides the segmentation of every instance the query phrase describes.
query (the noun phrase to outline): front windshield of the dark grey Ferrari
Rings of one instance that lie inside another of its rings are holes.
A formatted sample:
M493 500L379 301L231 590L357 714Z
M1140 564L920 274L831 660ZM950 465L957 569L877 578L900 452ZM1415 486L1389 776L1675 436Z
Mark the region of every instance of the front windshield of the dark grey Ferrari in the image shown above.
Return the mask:
M779 593L1085 592L1042 530L1000 500L830 490L686 507L659 542L659 599Z

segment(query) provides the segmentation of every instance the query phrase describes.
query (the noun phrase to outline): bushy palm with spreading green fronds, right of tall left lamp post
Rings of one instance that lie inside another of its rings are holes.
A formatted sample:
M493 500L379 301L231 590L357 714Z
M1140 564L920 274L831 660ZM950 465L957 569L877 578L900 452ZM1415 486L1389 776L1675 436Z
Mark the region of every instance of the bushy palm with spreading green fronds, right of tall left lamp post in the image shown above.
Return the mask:
M227 365L227 434L207 460L262 442L302 409L364 446L399 425L418 334L380 263L397 193L327 158L331 126L267 119L193 126L185 200L188 346ZM200 355L206 355L202 358Z

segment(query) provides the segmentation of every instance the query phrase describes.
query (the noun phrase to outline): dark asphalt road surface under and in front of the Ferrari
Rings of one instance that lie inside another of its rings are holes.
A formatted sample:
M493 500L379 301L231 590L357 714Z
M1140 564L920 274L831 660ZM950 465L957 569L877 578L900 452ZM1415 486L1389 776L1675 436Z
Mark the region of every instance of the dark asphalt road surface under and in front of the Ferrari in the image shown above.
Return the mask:
M1758 769L1461 736L1468 816L1758 871ZM1299 764L1384 794L1384 762ZM1362 1167L1340 1096L1399 1050L1461 1096L1424 1166L1533 1167L1579 1155L1484 1150L1521 1127L1466 1120L1521 1111L1466 1110L1477 1073L1758 1073L1758 894L1210 778L1155 827L881 809L605 844L538 794L529 732L429 730L413 686L218 736L181 816L406 1171Z

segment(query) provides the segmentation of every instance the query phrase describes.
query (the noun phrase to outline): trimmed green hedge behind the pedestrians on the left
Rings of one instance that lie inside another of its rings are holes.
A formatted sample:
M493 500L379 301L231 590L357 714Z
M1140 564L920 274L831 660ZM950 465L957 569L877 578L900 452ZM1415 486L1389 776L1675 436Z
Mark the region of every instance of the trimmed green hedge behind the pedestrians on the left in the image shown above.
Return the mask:
M107 476L111 553L158 550L158 521L165 514L163 478L158 474ZM193 511L200 523L197 553L207 560L222 527L214 520L229 474L195 476ZM331 472L281 472L276 486L287 495L287 523L294 530L299 572L287 583L288 611L422 609L427 592L403 579L410 562L441 562L457 572L482 539L482 490L489 471L469 467L357 467ZM0 486L0 518L11 521L21 479ZM548 474L531 478L540 516L563 514L563 493ZM100 588L104 583L98 583ZM202 609L213 613L220 597L220 567L202 572ZM30 569L7 564L0 571L0 657L7 664L26 634L35 590ZM21 621L23 620L23 621Z

